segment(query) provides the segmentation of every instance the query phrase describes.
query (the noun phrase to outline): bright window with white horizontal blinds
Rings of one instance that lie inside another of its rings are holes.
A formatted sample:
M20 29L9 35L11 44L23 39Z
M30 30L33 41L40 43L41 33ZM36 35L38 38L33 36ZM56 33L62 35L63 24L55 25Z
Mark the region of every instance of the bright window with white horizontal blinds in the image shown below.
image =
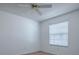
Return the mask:
M68 46L68 21L49 25L49 44Z

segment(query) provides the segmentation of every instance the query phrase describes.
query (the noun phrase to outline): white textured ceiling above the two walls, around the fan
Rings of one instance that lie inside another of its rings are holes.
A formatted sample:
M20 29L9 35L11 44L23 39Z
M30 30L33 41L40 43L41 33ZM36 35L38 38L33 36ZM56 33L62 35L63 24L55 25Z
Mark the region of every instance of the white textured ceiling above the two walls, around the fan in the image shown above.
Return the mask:
M45 3L44 3L45 4ZM39 5L44 5L39 4ZM76 10L79 8L79 4L69 4L69 3L52 3L51 8L39 8L42 13L39 15L34 9L31 8L30 4L0 4L0 10L16 14L19 16L27 17L36 21L43 21L51 17L56 17L58 15Z

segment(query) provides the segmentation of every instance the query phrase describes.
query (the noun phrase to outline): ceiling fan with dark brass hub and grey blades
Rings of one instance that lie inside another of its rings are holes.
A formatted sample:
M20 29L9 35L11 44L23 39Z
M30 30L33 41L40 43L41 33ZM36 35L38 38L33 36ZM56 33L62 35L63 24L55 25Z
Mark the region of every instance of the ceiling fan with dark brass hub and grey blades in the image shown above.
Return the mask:
M52 4L47 3L29 3L28 4L33 10L35 10L39 15L42 15L39 8L51 8ZM26 7L26 4L20 4L19 6Z

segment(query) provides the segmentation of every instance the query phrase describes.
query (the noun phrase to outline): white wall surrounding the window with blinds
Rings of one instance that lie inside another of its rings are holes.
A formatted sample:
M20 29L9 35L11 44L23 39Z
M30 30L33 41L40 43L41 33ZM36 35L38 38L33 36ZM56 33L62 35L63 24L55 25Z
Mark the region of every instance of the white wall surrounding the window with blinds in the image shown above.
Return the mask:
M50 46L48 25L69 20L69 46ZM79 54L79 11L41 22L41 50L52 54Z

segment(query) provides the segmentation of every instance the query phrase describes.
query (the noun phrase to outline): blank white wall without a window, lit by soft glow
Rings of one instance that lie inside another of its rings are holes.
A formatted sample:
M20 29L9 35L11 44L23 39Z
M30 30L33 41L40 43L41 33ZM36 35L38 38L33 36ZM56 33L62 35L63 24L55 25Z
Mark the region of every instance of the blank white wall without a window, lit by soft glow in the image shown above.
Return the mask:
M0 54L25 54L39 48L38 22L0 11Z

